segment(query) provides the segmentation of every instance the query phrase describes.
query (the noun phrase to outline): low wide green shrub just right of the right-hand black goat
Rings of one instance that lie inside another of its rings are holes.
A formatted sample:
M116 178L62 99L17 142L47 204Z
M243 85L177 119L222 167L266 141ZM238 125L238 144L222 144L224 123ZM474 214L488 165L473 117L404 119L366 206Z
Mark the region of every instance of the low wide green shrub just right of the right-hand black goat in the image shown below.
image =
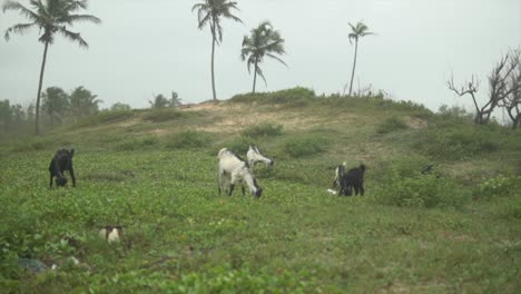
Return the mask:
M432 175L400 177L396 174L376 188L375 198L386 205L403 207L460 208L471 198L471 193L454 180Z

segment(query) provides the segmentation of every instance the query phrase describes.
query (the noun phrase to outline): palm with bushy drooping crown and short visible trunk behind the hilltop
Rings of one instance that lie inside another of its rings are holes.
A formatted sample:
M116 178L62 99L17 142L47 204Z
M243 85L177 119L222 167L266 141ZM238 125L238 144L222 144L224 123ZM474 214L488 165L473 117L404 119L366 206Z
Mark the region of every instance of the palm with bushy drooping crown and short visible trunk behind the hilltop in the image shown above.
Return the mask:
M262 22L257 28L252 30L252 36L244 36L243 49L240 50L240 58L247 62L248 72L250 72L250 66L254 66L254 85L252 92L255 92L255 84L257 75L264 78L263 70L258 67L258 63L263 62L265 56L278 60L281 63L287 65L275 55L284 55L284 39L281 33L273 30L269 21ZM267 85L267 84L266 84Z

